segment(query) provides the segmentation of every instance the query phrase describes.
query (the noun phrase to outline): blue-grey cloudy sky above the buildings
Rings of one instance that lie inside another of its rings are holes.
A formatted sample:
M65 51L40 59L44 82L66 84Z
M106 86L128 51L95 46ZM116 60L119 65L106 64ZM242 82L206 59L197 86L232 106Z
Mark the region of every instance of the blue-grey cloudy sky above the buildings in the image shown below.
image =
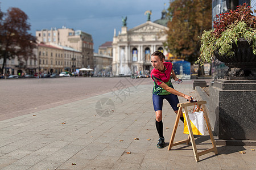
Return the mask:
M113 41L114 28L118 34L122 17L127 16L128 30L147 21L144 12L152 11L151 21L160 19L169 0L1 0L2 12L18 7L28 15L32 35L37 30L61 28L80 29L93 37L94 52L106 41ZM166 6L164 6L166 3Z

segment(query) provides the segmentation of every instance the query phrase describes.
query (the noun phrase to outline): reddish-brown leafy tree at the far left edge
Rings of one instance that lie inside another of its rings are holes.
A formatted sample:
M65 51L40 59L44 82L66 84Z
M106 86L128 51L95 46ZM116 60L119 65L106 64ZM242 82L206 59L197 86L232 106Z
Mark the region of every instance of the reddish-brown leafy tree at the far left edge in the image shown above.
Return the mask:
M0 13L0 58L3 58L0 72L3 73L6 59L18 57L20 65L24 64L22 59L35 59L36 37L28 33L28 16L19 8L12 7L7 13Z

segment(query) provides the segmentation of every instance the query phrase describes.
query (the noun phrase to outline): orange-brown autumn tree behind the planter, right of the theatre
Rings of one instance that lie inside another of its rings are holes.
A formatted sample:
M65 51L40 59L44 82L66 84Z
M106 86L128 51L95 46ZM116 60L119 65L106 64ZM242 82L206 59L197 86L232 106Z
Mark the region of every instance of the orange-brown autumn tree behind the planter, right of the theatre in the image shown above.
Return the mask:
M170 2L167 27L168 52L195 62L200 54L199 36L212 28L212 0L174 0Z

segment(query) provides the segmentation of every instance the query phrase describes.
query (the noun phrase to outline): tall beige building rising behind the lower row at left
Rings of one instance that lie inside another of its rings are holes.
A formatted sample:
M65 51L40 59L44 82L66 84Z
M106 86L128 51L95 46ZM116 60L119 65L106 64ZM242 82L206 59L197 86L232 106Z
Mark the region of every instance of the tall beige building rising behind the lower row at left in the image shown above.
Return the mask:
M39 43L57 44L80 51L83 56L81 67L93 69L93 39L90 34L62 27L36 31L36 38Z

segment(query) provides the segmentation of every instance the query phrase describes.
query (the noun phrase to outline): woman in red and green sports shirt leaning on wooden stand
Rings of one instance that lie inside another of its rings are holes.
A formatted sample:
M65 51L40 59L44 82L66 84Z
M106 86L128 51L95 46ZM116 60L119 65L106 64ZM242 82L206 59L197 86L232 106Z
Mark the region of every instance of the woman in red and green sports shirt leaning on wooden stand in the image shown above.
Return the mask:
M184 95L183 93L174 90L174 86L171 83L171 76L175 81L179 79L172 70L171 62L164 62L164 54L162 52L154 52L151 55L151 64L154 67L151 71L151 78L154 80L153 88L153 105L155 110L155 125L156 130L159 134L158 148L163 148L164 146L164 137L163 137L163 122L162 122L162 108L163 108L163 99L166 99L174 112L177 114L178 108L177 104L179 99L177 96L184 97L191 101L191 96ZM183 116L181 115L180 120L183 121Z

